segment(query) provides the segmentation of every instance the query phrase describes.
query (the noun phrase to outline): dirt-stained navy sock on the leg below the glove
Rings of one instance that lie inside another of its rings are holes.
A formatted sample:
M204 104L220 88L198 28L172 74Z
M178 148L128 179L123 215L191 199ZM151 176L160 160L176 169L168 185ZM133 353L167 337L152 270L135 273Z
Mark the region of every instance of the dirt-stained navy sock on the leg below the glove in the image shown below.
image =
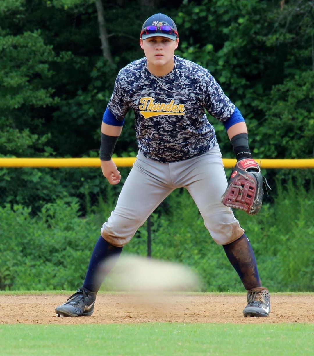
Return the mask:
M261 287L257 264L252 246L243 234L238 240L231 244L223 245L228 260L237 271L246 290Z

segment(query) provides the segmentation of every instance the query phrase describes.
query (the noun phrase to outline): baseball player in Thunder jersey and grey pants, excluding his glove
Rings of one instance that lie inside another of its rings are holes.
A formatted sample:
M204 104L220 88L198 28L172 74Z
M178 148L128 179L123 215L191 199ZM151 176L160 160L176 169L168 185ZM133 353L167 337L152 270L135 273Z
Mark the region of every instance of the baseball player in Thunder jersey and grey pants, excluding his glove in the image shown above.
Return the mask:
M135 113L137 160L102 226L82 287L56 308L56 314L92 315L104 278L98 278L99 266L118 256L161 201L184 187L247 290L243 315L268 316L269 293L261 284L251 244L232 209L222 204L228 183L205 109L225 125L238 161L252 158L245 121L207 69L174 55L179 34L170 17L149 17L139 43L145 57L120 70L103 115L102 173L110 184L120 182L111 156L130 109Z

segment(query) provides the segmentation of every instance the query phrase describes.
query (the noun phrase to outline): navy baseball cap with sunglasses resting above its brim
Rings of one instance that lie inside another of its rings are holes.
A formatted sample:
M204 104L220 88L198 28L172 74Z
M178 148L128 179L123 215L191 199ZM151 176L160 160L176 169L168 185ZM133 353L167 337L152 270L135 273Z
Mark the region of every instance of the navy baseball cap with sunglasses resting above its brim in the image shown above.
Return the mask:
M156 31L146 31L146 33L143 33L144 29L148 26L157 26ZM166 31L163 30L163 27L160 26L170 26L174 31ZM151 33L147 33L151 32ZM155 14L150 16L144 23L141 29L141 38L142 40L146 40L146 38L149 37L154 37L154 36L162 36L166 38L170 38L170 40L176 40L177 37L177 26L174 23L173 19L171 19L169 16L161 14Z

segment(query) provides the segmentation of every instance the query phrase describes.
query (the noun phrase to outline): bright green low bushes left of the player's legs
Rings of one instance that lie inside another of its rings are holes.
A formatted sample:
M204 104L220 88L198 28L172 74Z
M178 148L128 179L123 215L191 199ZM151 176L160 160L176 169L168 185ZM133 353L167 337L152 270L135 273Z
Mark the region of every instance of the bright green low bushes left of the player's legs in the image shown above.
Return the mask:
M84 278L99 229L91 218L78 218L69 198L30 208L0 208L0 286L5 290L73 289Z

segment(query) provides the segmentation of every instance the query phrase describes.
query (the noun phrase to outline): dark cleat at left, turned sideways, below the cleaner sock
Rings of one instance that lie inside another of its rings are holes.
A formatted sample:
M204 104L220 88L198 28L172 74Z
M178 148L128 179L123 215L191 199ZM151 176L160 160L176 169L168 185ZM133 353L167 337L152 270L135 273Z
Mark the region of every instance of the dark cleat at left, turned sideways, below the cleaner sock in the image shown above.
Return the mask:
M56 308L58 318L63 316L89 316L94 312L96 293L81 287L67 300Z

